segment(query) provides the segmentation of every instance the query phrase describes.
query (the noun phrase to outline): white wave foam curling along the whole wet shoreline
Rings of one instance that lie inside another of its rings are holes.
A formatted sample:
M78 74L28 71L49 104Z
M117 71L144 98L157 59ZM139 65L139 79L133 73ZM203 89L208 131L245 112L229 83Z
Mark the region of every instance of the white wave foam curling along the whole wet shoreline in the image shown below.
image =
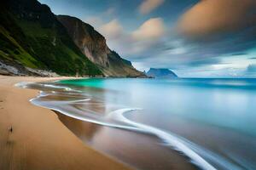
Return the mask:
M190 162L195 164L204 170L240 170L241 167L234 163L226 160L223 156L218 156L218 154L207 150L188 139L184 139L175 133L166 132L157 127L152 127L140 122L134 122L125 117L125 114L132 111L141 111L141 108L121 108L111 111L106 116L97 114L94 111L88 109L79 109L74 107L73 104L86 104L90 102L90 97L86 94L81 93L81 91L68 88L65 86L59 86L54 84L42 84L42 83L32 83L32 82L20 82L16 84L20 88L37 88L44 91L40 91L40 94L30 101L33 105L38 105L41 107L48 108L53 111L61 112L61 114L79 119L85 122L92 122L102 126L121 128L125 130L136 131L139 133L153 134L162 140L162 142L172 148L182 153L184 156L188 157ZM69 100L57 100L50 99L44 100L43 98L47 96L58 96L64 95L70 97ZM88 103L90 104L90 103ZM104 104L98 104L104 105ZM86 113L84 112L86 111Z

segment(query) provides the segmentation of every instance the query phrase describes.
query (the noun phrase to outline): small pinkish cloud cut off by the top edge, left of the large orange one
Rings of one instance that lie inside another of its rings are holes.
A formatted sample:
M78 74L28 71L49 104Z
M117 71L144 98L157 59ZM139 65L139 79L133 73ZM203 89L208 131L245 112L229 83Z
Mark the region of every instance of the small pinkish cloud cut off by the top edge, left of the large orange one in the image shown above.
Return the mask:
M139 10L141 14L148 14L155 8L158 8L165 0L144 0L140 5Z

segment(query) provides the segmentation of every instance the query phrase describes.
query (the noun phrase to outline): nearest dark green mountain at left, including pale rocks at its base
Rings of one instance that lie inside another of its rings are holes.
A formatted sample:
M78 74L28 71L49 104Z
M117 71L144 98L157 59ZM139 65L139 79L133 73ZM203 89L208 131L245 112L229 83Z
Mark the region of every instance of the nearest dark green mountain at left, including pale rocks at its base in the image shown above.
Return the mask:
M1 2L0 44L0 74L102 75L50 8L36 0Z

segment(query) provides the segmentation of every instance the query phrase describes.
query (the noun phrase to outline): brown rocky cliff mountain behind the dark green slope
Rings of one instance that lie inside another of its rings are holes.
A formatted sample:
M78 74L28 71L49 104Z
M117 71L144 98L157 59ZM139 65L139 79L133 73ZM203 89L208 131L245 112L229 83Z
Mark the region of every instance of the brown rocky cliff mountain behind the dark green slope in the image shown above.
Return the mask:
M69 36L81 52L98 65L107 77L145 77L131 62L108 48L105 37L92 26L75 17L58 15L57 19L67 28Z

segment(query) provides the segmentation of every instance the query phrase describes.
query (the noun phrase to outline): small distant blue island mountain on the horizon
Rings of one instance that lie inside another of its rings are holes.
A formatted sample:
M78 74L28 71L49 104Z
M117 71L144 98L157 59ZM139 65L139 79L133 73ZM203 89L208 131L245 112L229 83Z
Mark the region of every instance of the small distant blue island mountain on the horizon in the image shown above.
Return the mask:
M147 72L147 76L156 78L177 78L177 75L169 69L150 68Z

